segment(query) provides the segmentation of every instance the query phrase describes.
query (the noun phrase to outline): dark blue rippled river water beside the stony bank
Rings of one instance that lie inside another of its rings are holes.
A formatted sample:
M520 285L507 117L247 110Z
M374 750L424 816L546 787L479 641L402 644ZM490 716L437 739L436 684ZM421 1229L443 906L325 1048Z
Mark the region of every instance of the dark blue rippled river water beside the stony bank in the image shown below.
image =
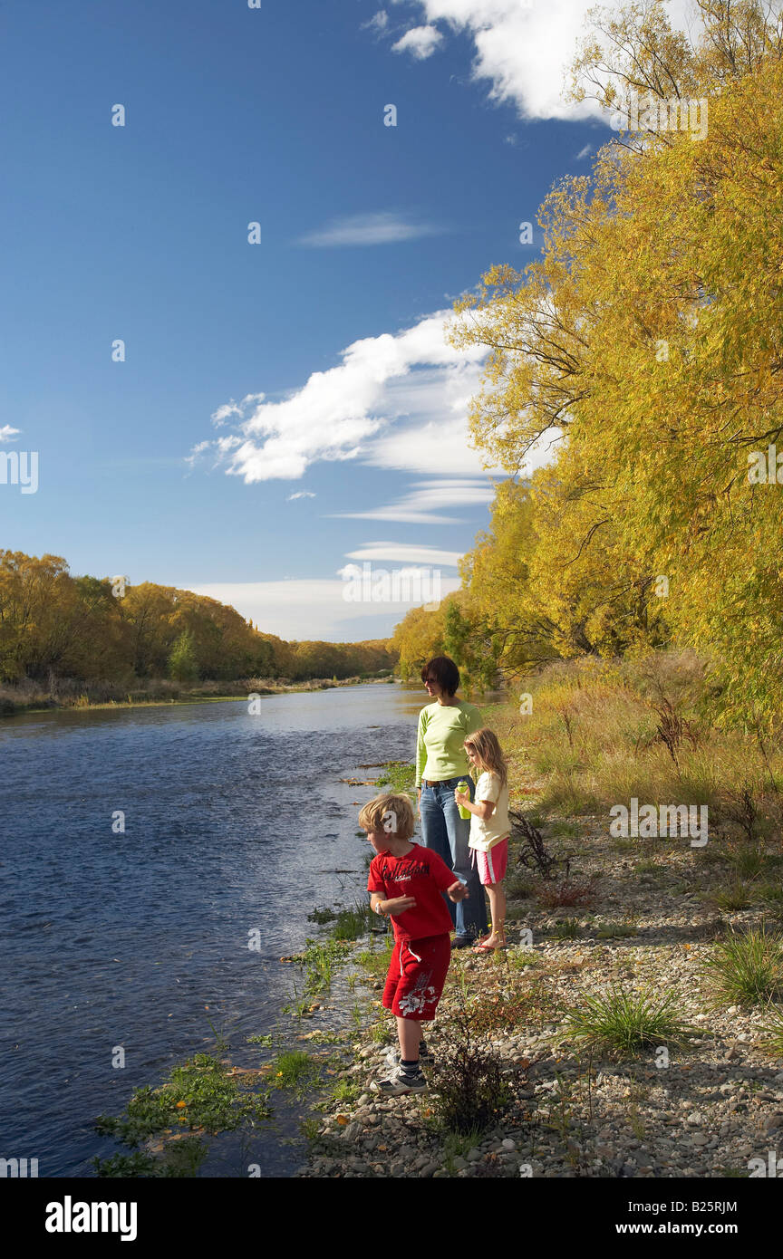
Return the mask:
M0 724L0 1157L92 1175L116 1149L97 1114L214 1047L213 1027L271 1030L307 913L366 885L371 791L339 779L413 759L420 704L366 685L264 696L256 716L238 700ZM269 1148L254 1157L272 1173Z

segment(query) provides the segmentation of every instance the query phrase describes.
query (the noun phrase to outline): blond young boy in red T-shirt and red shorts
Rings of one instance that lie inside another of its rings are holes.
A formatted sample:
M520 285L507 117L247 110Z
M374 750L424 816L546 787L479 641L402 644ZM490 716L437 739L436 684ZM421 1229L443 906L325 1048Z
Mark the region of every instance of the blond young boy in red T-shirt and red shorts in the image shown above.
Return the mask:
M370 906L392 918L394 952L383 1005L397 1015L400 1061L388 1080L373 1081L375 1093L397 1095L427 1088L419 1068L422 1022L436 1016L451 961L452 920L443 893L454 903L467 888L446 861L410 842L415 823L407 796L376 796L359 815L359 825L378 854L370 862Z

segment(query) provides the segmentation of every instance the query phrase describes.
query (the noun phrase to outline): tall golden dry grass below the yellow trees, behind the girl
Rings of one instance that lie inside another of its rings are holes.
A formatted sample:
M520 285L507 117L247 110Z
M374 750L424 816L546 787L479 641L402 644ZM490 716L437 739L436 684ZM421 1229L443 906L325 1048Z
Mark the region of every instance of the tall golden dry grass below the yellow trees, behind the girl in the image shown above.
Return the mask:
M783 752L768 747L768 764L752 734L707 724L704 663L692 652L561 662L519 690L531 694L532 711L521 715L514 703L493 723L522 778L540 787L545 812L608 816L632 797L706 805L710 836L746 841L749 796L754 838L780 840Z

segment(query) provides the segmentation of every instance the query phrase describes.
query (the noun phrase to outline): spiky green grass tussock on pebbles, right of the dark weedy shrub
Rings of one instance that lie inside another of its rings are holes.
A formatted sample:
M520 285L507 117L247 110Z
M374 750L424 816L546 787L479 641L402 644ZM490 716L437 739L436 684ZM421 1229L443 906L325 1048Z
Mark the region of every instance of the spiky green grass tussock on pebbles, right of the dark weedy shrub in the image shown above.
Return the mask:
M699 1035L677 1012L677 998L618 986L566 1008L560 1040L589 1053L628 1058L648 1046L686 1045Z

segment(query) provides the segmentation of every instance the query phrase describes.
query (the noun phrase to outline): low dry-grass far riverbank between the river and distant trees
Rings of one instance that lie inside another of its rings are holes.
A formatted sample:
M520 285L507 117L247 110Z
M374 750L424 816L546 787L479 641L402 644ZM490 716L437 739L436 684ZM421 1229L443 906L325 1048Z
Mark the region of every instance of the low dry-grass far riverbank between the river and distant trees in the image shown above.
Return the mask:
M19 699L19 691L14 687L0 687L0 718L18 716L23 713L50 713L67 711L70 709L86 709L99 711L102 709L128 709L128 708L160 708L172 704L206 704L224 703L227 700L247 699L251 695L286 695L301 691L325 691L335 686L364 686L369 684L394 682L394 677L313 677L301 682L286 682L279 679L251 677L239 679L235 682L201 682L191 689L183 689L175 682L159 680L150 684L150 689L144 687L127 692L127 699L92 700L87 694L58 695L28 685L23 694L29 697Z

